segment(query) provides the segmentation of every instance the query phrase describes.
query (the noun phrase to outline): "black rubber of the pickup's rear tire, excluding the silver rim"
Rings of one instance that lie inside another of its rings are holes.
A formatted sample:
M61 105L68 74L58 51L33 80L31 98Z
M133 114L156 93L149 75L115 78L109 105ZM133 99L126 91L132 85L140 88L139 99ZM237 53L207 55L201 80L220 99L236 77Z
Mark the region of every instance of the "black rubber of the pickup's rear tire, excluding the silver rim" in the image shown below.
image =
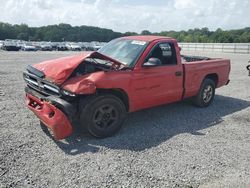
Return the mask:
M204 102L203 96L202 96L203 91L207 85L211 85L213 88L212 98L208 103ZM198 106L198 107L208 107L213 102L214 96L215 96L215 83L213 80L211 80L209 78L205 78L201 84L199 93L193 98L192 101L193 101L193 104Z

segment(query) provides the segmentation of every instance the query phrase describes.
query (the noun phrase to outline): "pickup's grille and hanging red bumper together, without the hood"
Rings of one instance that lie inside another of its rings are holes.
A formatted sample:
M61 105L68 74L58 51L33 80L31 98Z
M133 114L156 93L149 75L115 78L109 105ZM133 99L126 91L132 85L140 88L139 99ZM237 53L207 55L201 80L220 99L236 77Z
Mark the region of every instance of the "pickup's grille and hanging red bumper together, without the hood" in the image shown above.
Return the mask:
M55 139L71 135L77 105L63 97L59 87L31 73L24 73L26 106L46 125Z

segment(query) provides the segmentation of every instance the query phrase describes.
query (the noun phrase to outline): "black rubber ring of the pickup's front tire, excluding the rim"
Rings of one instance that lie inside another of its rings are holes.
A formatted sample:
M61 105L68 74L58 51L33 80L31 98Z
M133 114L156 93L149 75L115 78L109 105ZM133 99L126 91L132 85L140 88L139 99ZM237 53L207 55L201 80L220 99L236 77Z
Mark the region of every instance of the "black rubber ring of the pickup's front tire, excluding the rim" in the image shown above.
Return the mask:
M112 103L119 111L119 121L109 130L98 130L92 122L92 116L96 108L105 103ZM80 126L87 129L88 132L97 138L106 138L114 135L122 126L126 117L126 108L124 103L116 96L110 94L100 94L90 96L81 101Z

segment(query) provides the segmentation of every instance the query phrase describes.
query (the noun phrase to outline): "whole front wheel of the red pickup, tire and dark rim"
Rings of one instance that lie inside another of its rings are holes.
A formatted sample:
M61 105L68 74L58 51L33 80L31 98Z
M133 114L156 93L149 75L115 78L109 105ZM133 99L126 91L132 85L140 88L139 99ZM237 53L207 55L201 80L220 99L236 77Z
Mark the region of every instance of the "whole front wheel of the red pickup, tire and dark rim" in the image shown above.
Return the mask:
M80 124L97 138L114 135L126 116L124 103L113 95L97 95L82 103Z

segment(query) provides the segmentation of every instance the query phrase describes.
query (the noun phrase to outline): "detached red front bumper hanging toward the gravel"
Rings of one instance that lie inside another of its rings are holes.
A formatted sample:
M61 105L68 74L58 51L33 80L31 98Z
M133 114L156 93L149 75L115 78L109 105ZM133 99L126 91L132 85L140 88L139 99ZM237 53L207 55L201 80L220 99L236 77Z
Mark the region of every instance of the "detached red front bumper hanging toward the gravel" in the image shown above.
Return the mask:
M62 108L59 109L58 101L61 99L57 99L57 102L50 97L42 99L39 96L34 96L32 92L27 92L27 89L25 99L27 107L52 130L55 139L61 140L72 134L71 116L67 113L73 115L75 111L73 108L67 108L68 112L64 112L65 110ZM61 105L63 105L62 103Z

